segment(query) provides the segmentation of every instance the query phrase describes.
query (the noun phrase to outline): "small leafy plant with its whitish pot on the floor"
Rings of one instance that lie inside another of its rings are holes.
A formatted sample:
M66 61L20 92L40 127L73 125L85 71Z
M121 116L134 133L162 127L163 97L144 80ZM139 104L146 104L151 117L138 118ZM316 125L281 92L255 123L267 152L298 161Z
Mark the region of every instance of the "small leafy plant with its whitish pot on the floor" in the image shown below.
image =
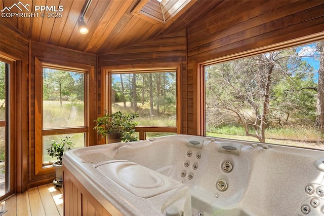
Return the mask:
M52 156L52 158L56 157L57 161L52 165L55 168L55 179L53 183L55 185L62 185L63 182L63 167L62 167L62 157L64 151L70 150L73 146L73 142L69 140L70 137L65 137L61 139L61 142L57 142L56 140L52 140L50 147L47 149L47 154Z

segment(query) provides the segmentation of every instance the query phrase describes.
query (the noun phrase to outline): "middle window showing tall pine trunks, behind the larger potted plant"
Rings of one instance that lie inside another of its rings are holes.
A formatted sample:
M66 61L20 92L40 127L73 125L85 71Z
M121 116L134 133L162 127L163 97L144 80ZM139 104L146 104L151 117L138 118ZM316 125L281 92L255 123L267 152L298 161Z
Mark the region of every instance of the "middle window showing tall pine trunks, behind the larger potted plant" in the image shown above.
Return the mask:
M178 132L178 68L107 71L107 110L137 113L140 139Z

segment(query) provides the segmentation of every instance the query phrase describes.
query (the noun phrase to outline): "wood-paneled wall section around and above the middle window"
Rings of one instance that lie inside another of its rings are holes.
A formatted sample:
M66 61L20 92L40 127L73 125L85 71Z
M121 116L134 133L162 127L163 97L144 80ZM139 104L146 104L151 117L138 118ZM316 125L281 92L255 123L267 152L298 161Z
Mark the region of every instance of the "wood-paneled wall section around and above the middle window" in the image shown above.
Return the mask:
M159 67L163 63L173 64L178 66L181 64L181 77L186 77L186 31L178 31L176 33L163 35L158 39L147 40L143 43L113 51L108 54L99 55L98 58L98 87L104 85L101 67L103 66L115 66L116 68L146 68L146 67ZM184 120L186 117L186 79L180 80L182 83L182 89L180 89L182 94L182 101L180 104L182 114L181 118ZM103 88L98 90L101 92L98 96L98 105L100 105L98 110L98 115L102 115L104 112L104 92ZM99 113L100 112L100 113ZM182 122L181 132L186 133L186 122Z

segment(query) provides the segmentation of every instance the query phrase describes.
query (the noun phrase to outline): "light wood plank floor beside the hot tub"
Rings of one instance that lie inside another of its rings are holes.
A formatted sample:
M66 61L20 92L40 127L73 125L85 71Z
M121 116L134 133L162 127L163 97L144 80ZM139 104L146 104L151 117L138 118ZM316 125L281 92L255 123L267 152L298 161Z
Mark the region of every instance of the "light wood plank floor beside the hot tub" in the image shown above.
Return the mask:
M8 210L4 216L63 216L63 190L54 184L30 188L0 203L0 211Z

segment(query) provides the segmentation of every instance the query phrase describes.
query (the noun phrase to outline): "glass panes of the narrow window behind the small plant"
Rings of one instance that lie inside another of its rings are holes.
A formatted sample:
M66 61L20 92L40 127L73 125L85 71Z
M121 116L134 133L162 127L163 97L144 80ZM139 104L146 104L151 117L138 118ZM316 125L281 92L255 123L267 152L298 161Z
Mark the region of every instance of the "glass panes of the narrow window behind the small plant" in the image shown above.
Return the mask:
M55 158L47 155L52 140L70 137L72 148L85 146L85 133L56 135L57 130L85 127L85 73L43 68L43 164ZM54 161L55 162L55 161Z

